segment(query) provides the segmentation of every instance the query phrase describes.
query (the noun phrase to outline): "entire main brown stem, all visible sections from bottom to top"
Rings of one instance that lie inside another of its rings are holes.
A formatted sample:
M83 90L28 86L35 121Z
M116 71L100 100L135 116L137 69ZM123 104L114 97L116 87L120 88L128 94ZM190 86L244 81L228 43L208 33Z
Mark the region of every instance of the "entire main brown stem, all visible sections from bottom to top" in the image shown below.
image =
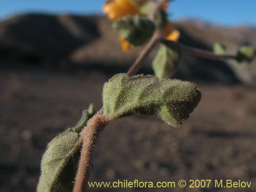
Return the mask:
M150 18L152 20L155 19L155 15L160 9L160 5L161 4L159 3L159 5L157 5L154 9L153 13L150 15ZM156 47L160 40L161 32L159 30L156 30L151 40L140 53L139 57L135 60L129 71L127 71L126 74L128 76L133 76L138 72L145 58L151 53L151 51ZM87 190L87 185L93 164L93 153L97 138L100 132L106 126L106 124L111 121L111 119L104 118L102 114L103 106L99 110L99 112L88 121L87 125L83 128L81 132L81 139L83 141L83 144L73 192L86 192Z

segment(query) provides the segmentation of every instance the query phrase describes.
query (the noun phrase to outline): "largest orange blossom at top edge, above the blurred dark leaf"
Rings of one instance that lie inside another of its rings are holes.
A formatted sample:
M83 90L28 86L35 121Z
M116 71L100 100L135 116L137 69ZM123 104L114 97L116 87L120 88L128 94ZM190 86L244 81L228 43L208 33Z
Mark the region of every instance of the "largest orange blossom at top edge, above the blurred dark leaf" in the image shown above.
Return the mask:
M139 12L129 0L110 0L103 5L102 9L110 20L117 20L124 15L135 15Z

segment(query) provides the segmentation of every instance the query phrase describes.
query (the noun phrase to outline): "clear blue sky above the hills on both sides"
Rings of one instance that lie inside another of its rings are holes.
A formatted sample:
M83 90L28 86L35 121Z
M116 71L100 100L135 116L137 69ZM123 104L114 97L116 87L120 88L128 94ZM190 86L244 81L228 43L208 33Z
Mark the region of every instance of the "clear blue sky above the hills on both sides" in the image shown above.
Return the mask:
M104 0L1 0L0 19L25 12L102 14ZM256 26L255 0L175 0L172 19L197 18L220 25Z

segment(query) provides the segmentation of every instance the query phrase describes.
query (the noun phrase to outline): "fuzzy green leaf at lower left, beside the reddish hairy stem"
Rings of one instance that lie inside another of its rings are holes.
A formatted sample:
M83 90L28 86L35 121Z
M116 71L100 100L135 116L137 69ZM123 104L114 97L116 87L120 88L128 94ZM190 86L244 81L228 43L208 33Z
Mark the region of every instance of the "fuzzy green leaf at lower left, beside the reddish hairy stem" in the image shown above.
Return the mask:
M41 161L37 192L71 192L76 176L82 140L79 132L94 115L93 106L84 110L77 125L55 137Z

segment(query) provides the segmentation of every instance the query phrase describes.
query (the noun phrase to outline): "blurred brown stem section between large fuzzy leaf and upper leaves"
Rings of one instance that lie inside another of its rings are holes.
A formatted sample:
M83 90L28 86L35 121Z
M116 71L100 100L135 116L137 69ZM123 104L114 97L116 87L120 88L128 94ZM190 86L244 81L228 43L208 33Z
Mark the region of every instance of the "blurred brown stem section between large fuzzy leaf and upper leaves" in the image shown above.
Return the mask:
M138 58L135 60L129 71L127 71L128 76L133 76L135 75L141 66L143 65L143 61L145 58L152 52L152 50L156 47L158 42L161 40L161 33L159 30L156 30L155 33L153 34L151 40L148 42L146 47L142 50Z

